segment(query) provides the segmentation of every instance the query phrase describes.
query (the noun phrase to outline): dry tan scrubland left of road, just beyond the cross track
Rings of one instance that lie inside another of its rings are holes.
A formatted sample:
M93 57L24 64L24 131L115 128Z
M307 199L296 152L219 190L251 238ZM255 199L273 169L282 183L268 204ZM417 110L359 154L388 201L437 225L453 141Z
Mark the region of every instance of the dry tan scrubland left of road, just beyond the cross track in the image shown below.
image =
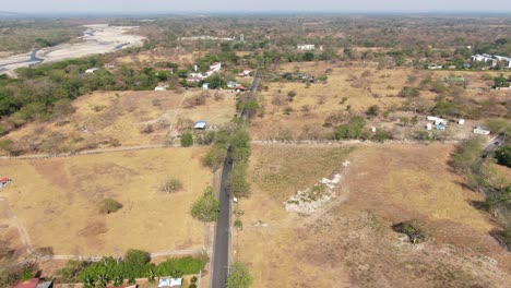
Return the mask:
M28 152L72 152L111 146L164 144L176 136L179 119L205 120L210 125L228 122L236 113L235 94L185 108L202 91L97 92L73 101L75 111L49 122L32 122L0 139L11 139ZM153 132L143 132L151 125Z

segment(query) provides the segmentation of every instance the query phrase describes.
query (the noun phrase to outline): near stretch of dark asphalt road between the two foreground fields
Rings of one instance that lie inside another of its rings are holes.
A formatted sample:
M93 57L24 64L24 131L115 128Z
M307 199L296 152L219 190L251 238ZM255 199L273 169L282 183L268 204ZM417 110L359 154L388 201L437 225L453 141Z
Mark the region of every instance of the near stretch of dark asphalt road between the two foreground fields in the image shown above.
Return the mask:
M216 221L215 244L213 250L212 288L224 288L227 281L229 265L229 237L230 237L230 199L225 189L227 176L233 169L230 149L227 151L224 168L222 170L221 190L218 194L219 214Z

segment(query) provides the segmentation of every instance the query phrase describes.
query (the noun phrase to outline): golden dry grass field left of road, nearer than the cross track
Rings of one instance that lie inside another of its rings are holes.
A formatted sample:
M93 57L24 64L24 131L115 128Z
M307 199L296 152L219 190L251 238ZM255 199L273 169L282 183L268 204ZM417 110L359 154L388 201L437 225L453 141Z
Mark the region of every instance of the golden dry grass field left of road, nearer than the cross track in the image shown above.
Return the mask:
M2 196L34 248L51 247L55 254L200 249L204 229L189 208L213 180L201 165L204 153L205 148L166 148L2 160L0 175L13 179ZM183 189L162 192L169 177L180 180ZM123 207L100 214L98 203L106 197ZM14 245L19 241L14 236L2 239L12 239Z

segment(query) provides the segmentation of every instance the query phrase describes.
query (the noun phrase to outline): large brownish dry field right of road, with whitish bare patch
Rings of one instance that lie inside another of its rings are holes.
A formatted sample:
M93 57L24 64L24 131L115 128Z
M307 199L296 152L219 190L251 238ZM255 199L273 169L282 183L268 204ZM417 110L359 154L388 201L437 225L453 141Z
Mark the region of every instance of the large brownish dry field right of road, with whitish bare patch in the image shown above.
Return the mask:
M471 205L482 195L450 172L452 149L384 144L347 155L346 147L254 145L235 257L249 264L254 287L506 287L511 256L489 236L488 215ZM310 217L285 211L286 199L334 171L343 175L334 205ZM409 219L432 239L400 240L391 225Z

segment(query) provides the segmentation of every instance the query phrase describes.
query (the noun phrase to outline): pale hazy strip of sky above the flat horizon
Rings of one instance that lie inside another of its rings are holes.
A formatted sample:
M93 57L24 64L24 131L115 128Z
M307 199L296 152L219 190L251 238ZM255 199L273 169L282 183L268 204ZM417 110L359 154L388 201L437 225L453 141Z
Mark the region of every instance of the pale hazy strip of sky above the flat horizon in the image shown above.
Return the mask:
M24 13L511 12L511 0L0 0Z

